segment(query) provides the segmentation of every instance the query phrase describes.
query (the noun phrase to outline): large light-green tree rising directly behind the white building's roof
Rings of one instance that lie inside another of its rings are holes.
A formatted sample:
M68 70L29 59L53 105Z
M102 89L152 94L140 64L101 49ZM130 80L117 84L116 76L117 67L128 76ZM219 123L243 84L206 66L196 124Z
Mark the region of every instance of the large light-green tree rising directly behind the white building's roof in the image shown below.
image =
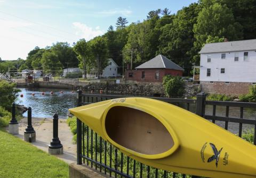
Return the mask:
M227 38L228 40L243 39L242 26L235 22L233 13L226 4L203 7L199 12L197 23L194 25L196 42L194 47L201 49L209 36ZM196 63L199 62L199 55L194 56Z

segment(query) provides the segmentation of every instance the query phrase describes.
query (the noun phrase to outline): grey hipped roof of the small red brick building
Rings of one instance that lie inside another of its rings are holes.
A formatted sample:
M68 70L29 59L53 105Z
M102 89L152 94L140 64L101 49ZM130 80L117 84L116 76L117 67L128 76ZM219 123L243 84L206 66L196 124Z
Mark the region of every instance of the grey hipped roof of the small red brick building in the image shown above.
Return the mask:
M184 70L179 65L175 64L167 57L159 54L153 59L135 67L135 69L174 69L174 70Z

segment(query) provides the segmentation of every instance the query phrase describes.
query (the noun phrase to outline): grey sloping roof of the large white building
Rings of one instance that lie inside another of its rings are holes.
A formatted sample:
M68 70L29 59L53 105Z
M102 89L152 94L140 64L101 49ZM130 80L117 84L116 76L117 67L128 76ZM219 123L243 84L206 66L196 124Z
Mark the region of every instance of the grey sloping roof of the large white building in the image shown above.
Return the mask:
M256 50L256 39L205 44L199 54Z

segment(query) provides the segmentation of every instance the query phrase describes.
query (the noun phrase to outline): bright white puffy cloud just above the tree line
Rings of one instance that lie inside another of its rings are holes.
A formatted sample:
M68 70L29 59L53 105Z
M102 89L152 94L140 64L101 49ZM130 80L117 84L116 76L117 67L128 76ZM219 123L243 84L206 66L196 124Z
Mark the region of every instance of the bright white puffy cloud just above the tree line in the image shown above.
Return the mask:
M76 30L76 35L79 35L81 38L86 40L90 40L104 33L103 30L100 30L99 26L93 29L92 27L86 26L86 24L81 22L74 22L73 28Z

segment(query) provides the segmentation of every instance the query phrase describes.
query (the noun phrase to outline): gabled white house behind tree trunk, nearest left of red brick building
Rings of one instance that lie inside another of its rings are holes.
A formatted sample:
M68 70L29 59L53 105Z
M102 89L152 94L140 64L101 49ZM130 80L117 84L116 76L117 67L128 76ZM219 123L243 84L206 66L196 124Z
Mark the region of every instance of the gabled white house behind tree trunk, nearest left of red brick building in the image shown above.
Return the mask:
M118 75L117 69L119 66L116 64L116 62L113 59L109 58L108 63L109 65L105 67L105 69L103 69L103 71L100 73L100 77L107 78L107 77L116 77ZM90 70L90 72L86 74L86 77L97 78L98 77L97 69Z

